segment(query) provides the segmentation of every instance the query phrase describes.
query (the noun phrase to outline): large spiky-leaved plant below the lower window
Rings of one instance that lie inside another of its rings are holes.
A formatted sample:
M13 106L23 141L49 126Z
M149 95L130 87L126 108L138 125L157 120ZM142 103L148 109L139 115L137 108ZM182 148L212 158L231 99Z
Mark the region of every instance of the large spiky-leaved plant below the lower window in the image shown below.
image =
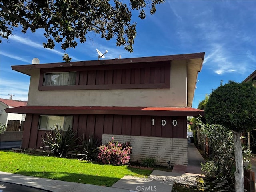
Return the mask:
M66 157L68 152L74 152L79 146L76 145L78 138L76 137L77 131L68 127L67 131L58 128L56 125L50 132L45 132L46 138L42 137L44 147L50 148L50 153L58 157ZM44 148L41 147L41 148ZM45 151L44 151L45 152Z

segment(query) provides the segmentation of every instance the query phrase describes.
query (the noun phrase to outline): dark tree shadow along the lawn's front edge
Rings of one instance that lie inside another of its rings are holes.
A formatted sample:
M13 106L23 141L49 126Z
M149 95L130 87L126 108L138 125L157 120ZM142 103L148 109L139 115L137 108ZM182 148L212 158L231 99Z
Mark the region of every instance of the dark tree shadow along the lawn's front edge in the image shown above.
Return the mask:
M39 178L48 178L60 181L92 184L99 186L112 186L120 178L115 177L105 177L105 176L95 176L95 175L86 175L86 174L76 174L76 173L67 173L67 172L27 172L27 171L17 171L16 174L34 176Z

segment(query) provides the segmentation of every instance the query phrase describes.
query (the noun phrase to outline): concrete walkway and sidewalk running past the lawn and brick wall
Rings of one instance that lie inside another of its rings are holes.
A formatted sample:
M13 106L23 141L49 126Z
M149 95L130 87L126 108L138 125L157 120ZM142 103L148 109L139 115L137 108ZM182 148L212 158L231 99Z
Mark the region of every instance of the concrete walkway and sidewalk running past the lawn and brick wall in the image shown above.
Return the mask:
M200 162L204 162L201 154L194 144L188 143L189 166L175 165L173 172L154 170L148 178L124 176L111 187L36 178L6 172L0 172L0 179L3 182L23 184L52 192L171 192L174 182L196 185L196 175L201 173Z

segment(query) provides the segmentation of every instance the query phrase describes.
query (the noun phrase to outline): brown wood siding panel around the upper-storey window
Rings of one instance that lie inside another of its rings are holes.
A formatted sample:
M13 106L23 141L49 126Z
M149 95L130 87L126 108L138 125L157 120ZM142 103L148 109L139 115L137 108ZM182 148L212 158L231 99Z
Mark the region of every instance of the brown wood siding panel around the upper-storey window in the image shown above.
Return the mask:
M44 73L76 71L76 85L43 86ZM78 81L78 82L77 82ZM170 61L113 66L48 68L40 72L38 90L170 88Z

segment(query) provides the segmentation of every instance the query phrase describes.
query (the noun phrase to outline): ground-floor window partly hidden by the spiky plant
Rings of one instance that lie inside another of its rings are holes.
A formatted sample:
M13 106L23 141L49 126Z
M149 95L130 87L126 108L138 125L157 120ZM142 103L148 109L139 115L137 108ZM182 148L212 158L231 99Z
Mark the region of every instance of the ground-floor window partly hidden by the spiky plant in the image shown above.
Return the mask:
M72 124L72 116L40 115L39 119L39 129L51 130L57 125L62 130L68 130L68 127L72 128Z

